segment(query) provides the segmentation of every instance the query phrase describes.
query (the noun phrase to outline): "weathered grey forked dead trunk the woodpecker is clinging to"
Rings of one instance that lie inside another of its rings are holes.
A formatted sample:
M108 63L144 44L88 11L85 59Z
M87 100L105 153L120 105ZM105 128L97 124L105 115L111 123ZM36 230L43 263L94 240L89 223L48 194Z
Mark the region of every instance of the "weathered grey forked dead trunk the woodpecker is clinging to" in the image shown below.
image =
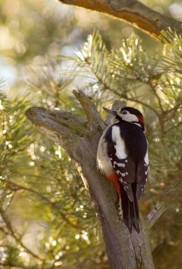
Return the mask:
M102 230L110 269L153 269L148 230L140 215L141 232L130 234L118 214L117 192L96 167L100 136L107 125L101 120L93 102L82 91L74 91L88 121L74 113L50 111L40 107L27 110L26 116L41 132L63 146L82 176ZM116 102L116 108L125 102ZM107 119L108 122L108 119Z

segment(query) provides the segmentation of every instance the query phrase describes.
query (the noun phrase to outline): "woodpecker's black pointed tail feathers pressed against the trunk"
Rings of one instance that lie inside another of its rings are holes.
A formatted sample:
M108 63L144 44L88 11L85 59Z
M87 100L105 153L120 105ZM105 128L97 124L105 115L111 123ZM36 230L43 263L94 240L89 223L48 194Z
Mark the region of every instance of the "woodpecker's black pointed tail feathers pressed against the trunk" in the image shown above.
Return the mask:
M119 195L119 215L122 220L129 228L131 233L132 226L134 226L137 233L140 233L140 221L139 221L139 210L138 210L138 200L136 198L136 183L132 183L132 191L134 194L134 200L131 202L126 194L122 184L121 187L121 195Z

